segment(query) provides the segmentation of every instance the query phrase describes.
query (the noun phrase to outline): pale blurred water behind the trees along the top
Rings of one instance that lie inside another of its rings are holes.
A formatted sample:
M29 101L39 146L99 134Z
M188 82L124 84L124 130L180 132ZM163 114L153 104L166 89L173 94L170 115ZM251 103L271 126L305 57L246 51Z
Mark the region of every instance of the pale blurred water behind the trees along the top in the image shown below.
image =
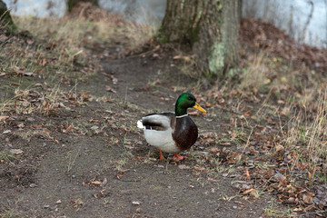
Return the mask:
M12 15L63 16L62 0L5 0ZM165 0L99 0L106 10L138 24L157 24L163 19ZM243 17L254 16L285 31L299 43L327 47L327 0L246 0Z

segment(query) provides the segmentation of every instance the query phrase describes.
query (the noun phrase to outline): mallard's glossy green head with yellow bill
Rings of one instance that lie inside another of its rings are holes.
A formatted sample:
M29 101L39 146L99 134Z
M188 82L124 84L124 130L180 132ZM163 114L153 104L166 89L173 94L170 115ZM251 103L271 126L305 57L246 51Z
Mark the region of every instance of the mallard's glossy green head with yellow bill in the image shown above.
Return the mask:
M193 107L196 110L206 113L206 111L196 102L193 94L183 93L177 98L175 104L175 115L181 116L187 114L187 108L189 107Z

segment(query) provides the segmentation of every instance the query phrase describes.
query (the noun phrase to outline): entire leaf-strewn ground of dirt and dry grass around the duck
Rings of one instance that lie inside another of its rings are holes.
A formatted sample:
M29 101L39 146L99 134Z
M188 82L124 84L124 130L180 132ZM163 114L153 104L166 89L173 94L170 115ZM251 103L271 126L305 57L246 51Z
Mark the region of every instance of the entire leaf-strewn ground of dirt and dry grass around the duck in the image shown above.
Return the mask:
M1 217L326 216L325 50L244 20L240 64L254 75L218 83L170 45L135 49L115 22L108 40L89 23L69 42L51 28L0 33ZM185 91L208 112L189 110L199 139L183 161L159 161L136 122Z

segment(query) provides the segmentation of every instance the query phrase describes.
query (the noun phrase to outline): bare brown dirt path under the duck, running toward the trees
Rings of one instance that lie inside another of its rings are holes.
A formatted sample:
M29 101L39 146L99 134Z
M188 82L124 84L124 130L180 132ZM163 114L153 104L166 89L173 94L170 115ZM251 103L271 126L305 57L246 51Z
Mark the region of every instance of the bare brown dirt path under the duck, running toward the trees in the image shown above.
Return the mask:
M48 134L18 137L17 124L1 126L0 142L20 154L0 167L0 214L4 217L269 217L286 211L275 196L244 197L233 188L236 168L202 166L209 148L200 141L174 163L158 161L135 128L137 119L173 110L182 91L199 89L168 58L127 57L103 62L78 89L93 99L49 117L17 117L26 129ZM110 88L116 93L107 92ZM173 87L178 91L174 91ZM201 88L201 87L200 87ZM106 99L104 99L106 97ZM200 133L225 133L233 126L219 109L193 116ZM74 126L63 131L63 126ZM2 134L10 128L11 134ZM50 137L47 137L49 136ZM235 171L235 173L234 173ZM235 182L236 181L236 182ZM274 204L273 204L274 203Z

